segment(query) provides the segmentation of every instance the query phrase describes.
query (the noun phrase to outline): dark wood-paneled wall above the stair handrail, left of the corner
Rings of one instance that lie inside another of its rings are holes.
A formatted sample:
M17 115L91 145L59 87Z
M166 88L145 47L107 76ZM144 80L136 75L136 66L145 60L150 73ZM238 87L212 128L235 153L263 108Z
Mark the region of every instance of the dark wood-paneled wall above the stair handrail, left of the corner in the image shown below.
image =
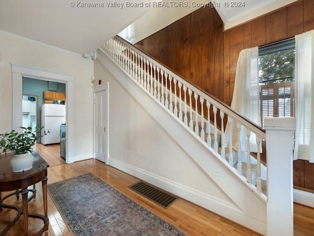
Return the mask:
M201 8L135 46L223 100L223 22L215 9Z

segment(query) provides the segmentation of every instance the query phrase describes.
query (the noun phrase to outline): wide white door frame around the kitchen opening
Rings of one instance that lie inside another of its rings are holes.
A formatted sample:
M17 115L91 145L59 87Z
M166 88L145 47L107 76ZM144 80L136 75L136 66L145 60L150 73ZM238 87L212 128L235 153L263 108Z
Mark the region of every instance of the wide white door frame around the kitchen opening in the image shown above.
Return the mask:
M12 129L22 126L23 76L65 83L66 100L66 163L74 162L73 146L73 75L42 68L11 63L12 66Z

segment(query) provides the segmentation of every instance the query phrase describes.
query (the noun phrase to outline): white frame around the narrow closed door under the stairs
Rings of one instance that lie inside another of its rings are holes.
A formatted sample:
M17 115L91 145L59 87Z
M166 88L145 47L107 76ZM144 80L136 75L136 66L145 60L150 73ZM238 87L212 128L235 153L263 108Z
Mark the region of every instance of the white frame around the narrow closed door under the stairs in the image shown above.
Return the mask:
M105 164L109 165L109 82L97 85L93 87L93 158L95 158L95 118L96 118L96 101L95 101L95 95L97 92L105 91Z

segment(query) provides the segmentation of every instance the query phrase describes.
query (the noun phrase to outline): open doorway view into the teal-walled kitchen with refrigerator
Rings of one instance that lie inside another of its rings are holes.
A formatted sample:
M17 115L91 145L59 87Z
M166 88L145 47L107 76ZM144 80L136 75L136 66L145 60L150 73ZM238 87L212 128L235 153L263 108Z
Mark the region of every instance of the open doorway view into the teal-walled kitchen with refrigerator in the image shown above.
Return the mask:
M50 166L64 163L66 155L64 152L61 155L61 125L65 125L65 83L51 82L24 76L22 103L23 127L31 127L34 133L36 132L36 126L44 126L44 130L49 130L49 133L46 136L40 137L34 147L34 150L38 153L39 151L43 153L44 155L42 155L42 157L47 163L49 163ZM46 107L43 107L44 104L49 105L45 105ZM47 110L49 108L47 106L54 108L50 110L51 117L46 117L43 113L43 111L46 111L47 114ZM56 113L56 111L59 111L59 113ZM63 136L62 142L65 142L65 137ZM51 146L53 146L53 149ZM64 148L64 145L62 145L62 148ZM44 151L44 149L52 149L53 151L48 154L48 151ZM47 158L49 158L49 161ZM63 158L64 160L61 160Z

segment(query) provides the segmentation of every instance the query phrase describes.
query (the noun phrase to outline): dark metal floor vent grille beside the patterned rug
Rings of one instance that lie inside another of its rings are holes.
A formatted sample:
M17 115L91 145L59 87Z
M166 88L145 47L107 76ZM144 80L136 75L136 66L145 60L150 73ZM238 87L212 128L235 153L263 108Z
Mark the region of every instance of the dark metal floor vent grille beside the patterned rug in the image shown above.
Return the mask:
M129 188L164 208L178 200L178 197L143 181L134 183Z

